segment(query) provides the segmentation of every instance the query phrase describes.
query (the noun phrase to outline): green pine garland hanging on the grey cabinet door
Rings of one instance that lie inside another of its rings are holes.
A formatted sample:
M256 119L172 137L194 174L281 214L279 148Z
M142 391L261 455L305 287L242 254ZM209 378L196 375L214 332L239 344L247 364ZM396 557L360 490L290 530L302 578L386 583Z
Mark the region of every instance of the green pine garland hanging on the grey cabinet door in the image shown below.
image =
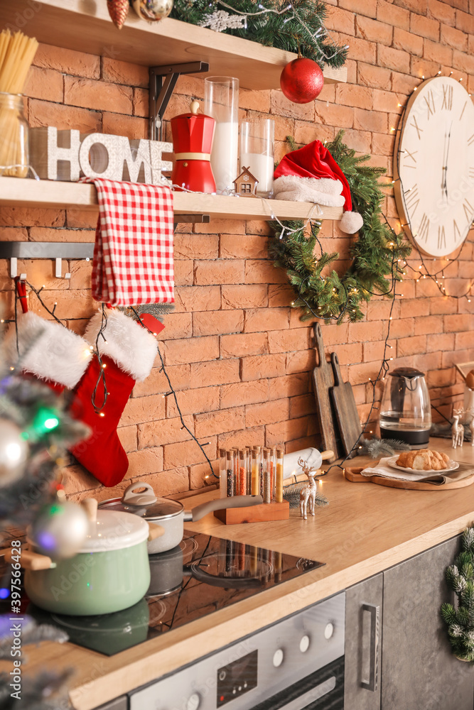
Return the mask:
M441 616L448 626L448 636L456 657L474 661L474 528L462 537L463 551L446 569L446 581L456 592L457 610L443 603Z

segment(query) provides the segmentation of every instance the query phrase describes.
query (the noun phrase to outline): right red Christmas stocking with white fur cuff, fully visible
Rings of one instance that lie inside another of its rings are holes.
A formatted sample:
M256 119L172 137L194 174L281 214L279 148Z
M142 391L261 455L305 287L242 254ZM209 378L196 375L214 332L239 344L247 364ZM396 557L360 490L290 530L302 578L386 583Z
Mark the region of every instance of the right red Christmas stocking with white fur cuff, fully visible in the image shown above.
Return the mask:
M104 369L94 357L75 388L70 413L85 422L92 434L70 452L104 486L122 481L129 467L117 435L117 425L135 381L144 381L153 367L157 345L153 335L117 310L107 310L107 324L98 347ZM102 324L97 313L85 332L87 343L96 344ZM101 377L103 373L104 378ZM104 402L104 379L107 400Z

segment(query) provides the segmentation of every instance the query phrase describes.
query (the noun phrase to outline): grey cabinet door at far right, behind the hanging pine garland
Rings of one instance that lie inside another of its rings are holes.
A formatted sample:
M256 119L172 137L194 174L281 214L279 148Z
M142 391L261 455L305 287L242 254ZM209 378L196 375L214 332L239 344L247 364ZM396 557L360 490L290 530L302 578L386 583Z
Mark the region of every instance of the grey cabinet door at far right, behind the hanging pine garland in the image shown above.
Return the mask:
M453 601L445 570L459 540L383 573L382 710L473 710L474 667L454 657L440 616Z

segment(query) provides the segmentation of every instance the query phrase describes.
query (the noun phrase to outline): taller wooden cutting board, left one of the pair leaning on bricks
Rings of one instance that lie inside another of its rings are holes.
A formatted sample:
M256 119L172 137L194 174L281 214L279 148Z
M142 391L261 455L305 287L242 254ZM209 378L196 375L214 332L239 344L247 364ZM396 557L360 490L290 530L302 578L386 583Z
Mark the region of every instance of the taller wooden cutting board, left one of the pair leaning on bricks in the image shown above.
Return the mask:
M319 430L323 439L323 449L332 449L335 454L342 455L342 447L336 439L338 433L337 421L333 414L333 407L329 397L329 388L334 386L333 367L326 362L324 354L323 332L321 325L313 325L316 367L313 369L313 391L316 398L316 410L318 414ZM338 446L339 443L339 446ZM328 459L332 464L335 456Z

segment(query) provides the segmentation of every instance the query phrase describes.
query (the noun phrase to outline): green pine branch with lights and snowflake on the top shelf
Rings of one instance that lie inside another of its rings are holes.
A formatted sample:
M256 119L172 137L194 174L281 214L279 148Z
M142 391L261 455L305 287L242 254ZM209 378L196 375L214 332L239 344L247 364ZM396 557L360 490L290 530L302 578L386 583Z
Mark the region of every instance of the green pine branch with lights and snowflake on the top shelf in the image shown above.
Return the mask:
M171 17L259 42L338 69L347 46L331 40L320 0L175 0Z

